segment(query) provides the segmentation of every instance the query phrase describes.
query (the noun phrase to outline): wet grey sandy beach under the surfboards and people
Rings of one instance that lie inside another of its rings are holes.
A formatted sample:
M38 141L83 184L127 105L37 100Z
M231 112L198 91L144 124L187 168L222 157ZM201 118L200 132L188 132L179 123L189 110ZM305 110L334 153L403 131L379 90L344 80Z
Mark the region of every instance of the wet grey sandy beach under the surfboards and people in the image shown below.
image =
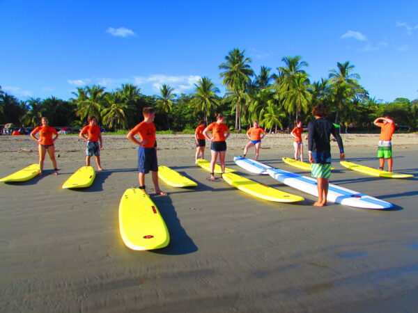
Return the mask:
M378 166L377 134L342 136L348 161ZM259 160L309 176L281 161L293 157L292 142L288 134L266 136ZM171 236L160 250L130 250L119 234L121 195L138 184L137 149L125 136L104 136L105 170L90 188L61 189L84 165L77 136L56 141L60 175L47 158L42 177L0 183L0 312L417 312L417 178L362 175L334 159L332 184L394 209L312 207L315 197L236 166L247 138L231 136L226 166L305 198L282 204L208 181L194 165L193 136L159 135L157 143L160 165L199 184L160 182L169 195L153 201ZM392 143L394 171L418 177L418 135L394 134ZM304 150L307 157L306 141ZM37 145L29 136L0 136L0 157L4 177L37 163ZM153 193L150 175L146 184Z

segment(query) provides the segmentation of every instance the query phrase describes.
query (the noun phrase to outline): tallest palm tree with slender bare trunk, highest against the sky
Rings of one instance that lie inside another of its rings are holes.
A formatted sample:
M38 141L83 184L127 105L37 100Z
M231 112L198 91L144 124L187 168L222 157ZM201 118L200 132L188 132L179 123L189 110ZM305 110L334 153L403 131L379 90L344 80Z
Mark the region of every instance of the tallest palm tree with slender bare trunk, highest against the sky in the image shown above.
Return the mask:
M222 85L226 86L226 89L232 93L238 93L237 97L240 97L244 90L246 90L247 84L251 81L250 77L254 75L254 71L251 70L249 63L251 58L245 58L245 50L233 49L229 51L229 54L225 56L225 63L219 65L220 70L224 70L219 77L222 77ZM240 102L233 102L235 104L235 129L240 130Z

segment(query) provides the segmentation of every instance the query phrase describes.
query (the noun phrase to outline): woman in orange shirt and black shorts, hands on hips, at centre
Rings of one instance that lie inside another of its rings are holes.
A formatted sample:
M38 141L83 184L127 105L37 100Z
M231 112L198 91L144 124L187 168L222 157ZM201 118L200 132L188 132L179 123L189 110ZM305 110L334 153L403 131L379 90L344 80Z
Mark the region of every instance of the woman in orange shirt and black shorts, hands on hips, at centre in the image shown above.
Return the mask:
M218 154L222 173L225 172L226 138L229 137L231 132L224 122L224 115L219 113L217 114L216 122L212 122L203 130L203 136L211 141L210 154L212 155L212 160L210 161L210 180L215 180L214 171ZM212 131L212 137L208 136L208 131Z

